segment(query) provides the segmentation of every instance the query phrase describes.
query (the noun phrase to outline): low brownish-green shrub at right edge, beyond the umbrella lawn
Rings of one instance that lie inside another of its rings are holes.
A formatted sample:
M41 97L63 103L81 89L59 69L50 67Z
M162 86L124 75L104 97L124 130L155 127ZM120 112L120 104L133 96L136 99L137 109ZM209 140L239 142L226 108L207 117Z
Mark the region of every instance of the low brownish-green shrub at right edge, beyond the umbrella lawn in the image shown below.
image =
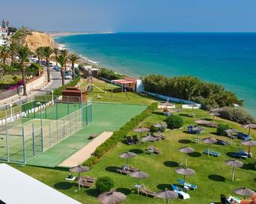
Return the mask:
M254 118L241 108L224 107L220 112L220 117L240 124L255 123Z

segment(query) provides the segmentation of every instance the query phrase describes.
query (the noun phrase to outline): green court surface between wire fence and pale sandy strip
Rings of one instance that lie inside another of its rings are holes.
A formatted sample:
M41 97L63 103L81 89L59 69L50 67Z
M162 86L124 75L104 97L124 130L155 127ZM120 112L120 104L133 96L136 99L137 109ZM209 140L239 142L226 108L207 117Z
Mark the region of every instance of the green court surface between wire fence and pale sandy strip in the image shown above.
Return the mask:
M90 142L90 134L102 132L113 132L131 120L131 117L138 115L147 106L128 104L93 104L93 122L84 126L70 137L59 144L49 148L45 152L37 153L36 158L31 158L27 164L56 167L70 155L73 155L80 148Z

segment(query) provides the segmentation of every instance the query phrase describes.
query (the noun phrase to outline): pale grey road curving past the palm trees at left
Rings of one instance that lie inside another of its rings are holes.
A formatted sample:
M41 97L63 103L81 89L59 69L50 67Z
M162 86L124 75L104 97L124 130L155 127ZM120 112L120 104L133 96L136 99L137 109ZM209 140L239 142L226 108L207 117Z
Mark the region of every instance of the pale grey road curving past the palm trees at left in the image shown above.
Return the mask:
M44 67L44 71L47 72L47 68ZM61 86L61 75L60 72L54 71L52 68L50 68L50 82L47 82L47 75L44 78L44 86L40 89L31 91L28 93L28 97L21 96L21 100L23 102L27 100L33 100L35 96L41 96L44 94L50 94L49 92L52 91L55 88L59 88ZM70 80L65 80L65 84L68 83ZM3 110L6 108L6 105L8 104L20 104L20 97L18 95L15 95L13 97L5 98L5 100L0 100L0 110Z

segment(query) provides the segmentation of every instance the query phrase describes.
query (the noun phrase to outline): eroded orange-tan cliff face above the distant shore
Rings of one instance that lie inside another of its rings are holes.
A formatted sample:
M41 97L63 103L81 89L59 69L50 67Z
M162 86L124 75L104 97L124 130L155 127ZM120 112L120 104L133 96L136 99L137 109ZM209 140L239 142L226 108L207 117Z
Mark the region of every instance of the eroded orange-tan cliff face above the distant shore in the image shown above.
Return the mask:
M31 32L31 35L28 35L25 38L25 45L27 45L31 51L35 51L39 46L50 46L53 48L54 40L52 37L46 33Z

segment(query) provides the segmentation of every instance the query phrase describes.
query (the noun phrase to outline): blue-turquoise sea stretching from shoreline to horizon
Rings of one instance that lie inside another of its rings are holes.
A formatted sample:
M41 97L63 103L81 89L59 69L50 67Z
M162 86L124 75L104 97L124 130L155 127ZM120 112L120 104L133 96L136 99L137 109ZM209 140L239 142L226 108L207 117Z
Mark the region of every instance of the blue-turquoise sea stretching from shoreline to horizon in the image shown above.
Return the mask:
M256 33L102 33L55 41L126 75L193 75L222 84L256 116Z

